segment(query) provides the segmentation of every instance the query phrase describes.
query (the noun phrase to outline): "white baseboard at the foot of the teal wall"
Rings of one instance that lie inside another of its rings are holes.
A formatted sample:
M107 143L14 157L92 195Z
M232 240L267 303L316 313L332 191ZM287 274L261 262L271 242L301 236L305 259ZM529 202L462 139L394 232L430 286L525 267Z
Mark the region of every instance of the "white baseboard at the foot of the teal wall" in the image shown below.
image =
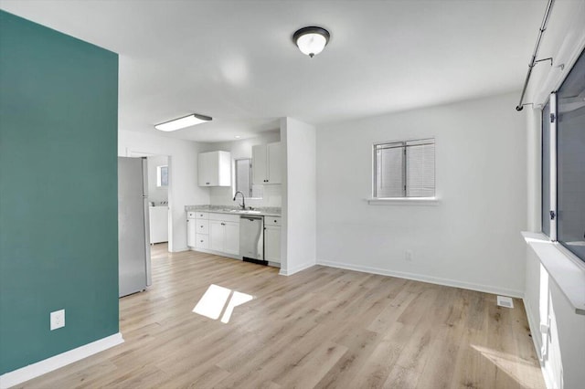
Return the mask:
M90 355L117 346L123 342L122 333L118 332L100 339L99 341L90 342L76 349L69 350L69 352L62 352L43 361L29 364L12 372L4 373L0 375L0 389L22 384L39 375L52 372L53 370L68 365L69 363L80 361L83 358L87 358Z

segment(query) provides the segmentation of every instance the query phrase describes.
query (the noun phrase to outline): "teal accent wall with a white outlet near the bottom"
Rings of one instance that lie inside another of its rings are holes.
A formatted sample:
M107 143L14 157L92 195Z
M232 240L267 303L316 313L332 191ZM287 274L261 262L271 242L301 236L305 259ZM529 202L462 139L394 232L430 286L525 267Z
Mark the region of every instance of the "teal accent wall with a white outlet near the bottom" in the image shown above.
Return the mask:
M0 11L0 373L118 332L117 131L118 55Z

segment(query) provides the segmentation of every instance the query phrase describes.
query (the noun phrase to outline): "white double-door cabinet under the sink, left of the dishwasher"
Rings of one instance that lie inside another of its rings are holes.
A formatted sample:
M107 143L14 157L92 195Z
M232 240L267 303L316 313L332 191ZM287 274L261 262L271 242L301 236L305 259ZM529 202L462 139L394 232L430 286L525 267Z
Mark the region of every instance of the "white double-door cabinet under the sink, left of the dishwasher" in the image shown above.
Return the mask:
M210 250L239 255L239 216L209 214Z

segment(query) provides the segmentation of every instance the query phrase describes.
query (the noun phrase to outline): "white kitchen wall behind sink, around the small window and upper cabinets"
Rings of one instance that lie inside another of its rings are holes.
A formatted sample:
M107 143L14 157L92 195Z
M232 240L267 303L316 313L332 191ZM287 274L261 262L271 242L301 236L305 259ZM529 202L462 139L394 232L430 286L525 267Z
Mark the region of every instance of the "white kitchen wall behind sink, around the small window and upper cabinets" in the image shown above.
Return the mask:
M280 131L267 131L261 133L256 138L245 139L234 142L216 142L202 145L205 152L224 151L231 153L232 161L241 158L252 157L252 146L257 144L266 144L271 142L280 142ZM233 169L233 167L232 167ZM233 190L231 186L210 187L209 201L211 205L239 205L241 198L236 202L233 201ZM247 206L281 206L282 205L282 185L271 184L264 185L262 198L246 198Z

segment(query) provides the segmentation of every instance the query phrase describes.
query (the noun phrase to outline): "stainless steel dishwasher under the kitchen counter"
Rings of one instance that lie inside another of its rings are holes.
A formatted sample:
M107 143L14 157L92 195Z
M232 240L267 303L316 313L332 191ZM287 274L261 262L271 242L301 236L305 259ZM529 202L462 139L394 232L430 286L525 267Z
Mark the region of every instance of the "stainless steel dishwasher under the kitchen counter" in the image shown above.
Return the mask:
M268 265L264 260L264 216L239 216L239 255L246 262Z

